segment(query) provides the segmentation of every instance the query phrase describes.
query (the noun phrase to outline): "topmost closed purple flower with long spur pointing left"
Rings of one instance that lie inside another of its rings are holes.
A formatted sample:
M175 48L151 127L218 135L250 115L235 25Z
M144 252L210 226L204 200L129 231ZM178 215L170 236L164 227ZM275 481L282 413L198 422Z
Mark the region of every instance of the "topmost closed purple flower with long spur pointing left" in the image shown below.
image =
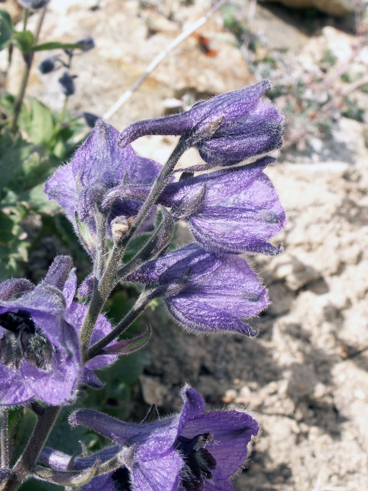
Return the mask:
M282 145L283 118L261 100L269 88L269 82L263 80L180 114L133 123L122 132L119 144L126 146L144 135L187 135L198 140L195 146L209 164L237 164ZM213 133L211 128L217 126Z

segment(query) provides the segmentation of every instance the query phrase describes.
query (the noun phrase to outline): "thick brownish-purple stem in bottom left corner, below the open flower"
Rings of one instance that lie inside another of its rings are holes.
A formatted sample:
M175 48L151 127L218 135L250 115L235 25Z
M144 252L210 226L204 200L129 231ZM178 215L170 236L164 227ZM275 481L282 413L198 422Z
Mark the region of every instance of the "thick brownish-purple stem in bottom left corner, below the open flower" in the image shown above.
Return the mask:
M31 468L36 463L38 456L46 443L53 428L60 406L45 408L42 416L38 416L36 426L33 429L26 448L12 469L12 475L0 487L0 491L17 491L31 474Z

